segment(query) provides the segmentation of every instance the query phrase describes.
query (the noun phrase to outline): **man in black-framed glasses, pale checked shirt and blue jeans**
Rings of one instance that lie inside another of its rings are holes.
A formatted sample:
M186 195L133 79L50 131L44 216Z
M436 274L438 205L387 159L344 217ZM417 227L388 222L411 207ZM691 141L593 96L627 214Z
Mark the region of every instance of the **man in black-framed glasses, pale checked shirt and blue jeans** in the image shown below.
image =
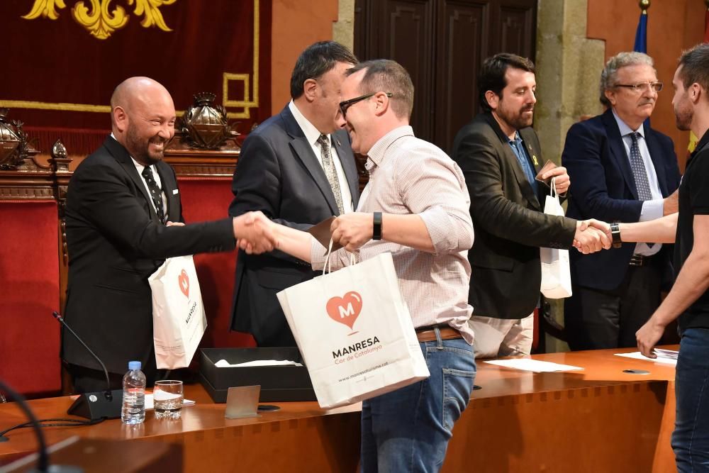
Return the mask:
M340 110L352 150L367 155L369 183L357 212L330 226L333 269L391 252L430 377L362 402L362 472L437 472L454 423L475 379L467 324L473 243L470 199L459 167L445 152L416 138L409 125L413 83L391 60L347 71ZM303 233L272 225L277 247L325 265L325 248Z

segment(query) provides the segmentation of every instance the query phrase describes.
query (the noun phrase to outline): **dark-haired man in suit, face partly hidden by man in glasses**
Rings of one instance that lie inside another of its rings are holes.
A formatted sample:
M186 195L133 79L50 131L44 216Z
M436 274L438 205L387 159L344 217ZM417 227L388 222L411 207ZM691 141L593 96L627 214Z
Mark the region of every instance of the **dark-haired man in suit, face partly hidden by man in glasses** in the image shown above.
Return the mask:
M293 100L246 138L234 173L230 216L262 211L307 230L357 207L359 179L350 138L338 117L345 70L357 58L333 41L311 45L291 74ZM232 329L262 347L295 346L276 293L316 276L283 252L246 255L236 264Z

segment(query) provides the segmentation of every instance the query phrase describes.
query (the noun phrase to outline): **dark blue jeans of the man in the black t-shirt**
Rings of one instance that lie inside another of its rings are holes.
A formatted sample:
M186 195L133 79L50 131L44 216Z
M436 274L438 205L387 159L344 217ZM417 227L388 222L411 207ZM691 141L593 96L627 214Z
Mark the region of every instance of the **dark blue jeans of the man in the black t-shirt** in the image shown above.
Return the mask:
M688 328L682 334L675 394L672 449L677 470L709 472L709 330Z

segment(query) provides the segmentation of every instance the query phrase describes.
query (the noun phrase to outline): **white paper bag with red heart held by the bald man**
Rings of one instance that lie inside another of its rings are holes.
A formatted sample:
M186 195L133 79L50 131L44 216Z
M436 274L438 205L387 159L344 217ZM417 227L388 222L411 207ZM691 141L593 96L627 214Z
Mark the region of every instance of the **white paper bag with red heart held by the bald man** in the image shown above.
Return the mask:
M187 367L207 328L194 261L191 256L168 258L147 280L157 367Z

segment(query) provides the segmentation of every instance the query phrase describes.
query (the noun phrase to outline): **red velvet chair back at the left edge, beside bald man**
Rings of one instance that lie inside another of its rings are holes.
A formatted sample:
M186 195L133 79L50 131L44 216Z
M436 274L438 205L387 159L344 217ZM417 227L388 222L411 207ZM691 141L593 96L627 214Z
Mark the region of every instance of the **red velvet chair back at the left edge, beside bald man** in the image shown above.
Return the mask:
M0 200L0 379L29 397L59 394L59 232L55 200Z

